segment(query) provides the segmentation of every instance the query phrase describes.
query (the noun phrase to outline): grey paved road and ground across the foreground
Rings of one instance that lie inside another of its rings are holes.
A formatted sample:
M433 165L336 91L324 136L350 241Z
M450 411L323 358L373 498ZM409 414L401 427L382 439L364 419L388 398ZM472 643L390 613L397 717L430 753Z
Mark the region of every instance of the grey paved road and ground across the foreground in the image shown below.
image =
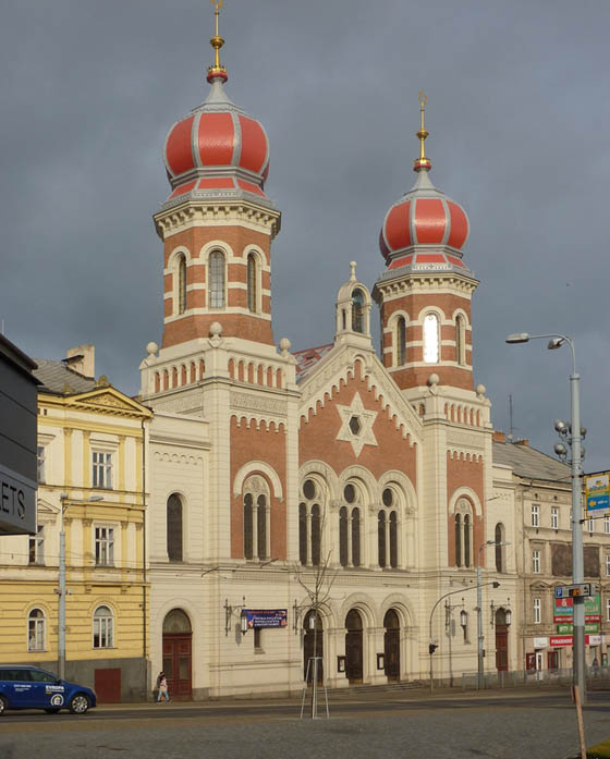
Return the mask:
M378 693L330 708L314 721L298 719L296 700L15 712L0 720L0 759L568 759L577 749L566 691ZM585 725L589 745L610 738L610 694L590 697Z

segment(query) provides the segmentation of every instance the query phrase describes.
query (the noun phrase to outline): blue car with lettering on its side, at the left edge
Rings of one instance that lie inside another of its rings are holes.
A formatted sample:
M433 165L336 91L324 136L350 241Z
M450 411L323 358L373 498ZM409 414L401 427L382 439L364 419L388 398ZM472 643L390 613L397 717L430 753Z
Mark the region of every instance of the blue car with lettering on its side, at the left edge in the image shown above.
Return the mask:
M38 666L0 664L0 714L7 709L44 709L48 714L70 709L86 714L95 706L95 693L84 685L66 683Z

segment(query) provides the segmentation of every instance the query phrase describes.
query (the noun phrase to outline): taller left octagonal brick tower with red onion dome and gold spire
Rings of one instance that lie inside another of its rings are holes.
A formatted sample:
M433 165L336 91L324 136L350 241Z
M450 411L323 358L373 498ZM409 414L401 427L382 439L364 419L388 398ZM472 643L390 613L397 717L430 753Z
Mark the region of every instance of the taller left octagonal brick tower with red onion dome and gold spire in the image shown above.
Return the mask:
M273 344L271 241L280 213L265 194L269 140L224 91L222 2L212 4L209 94L166 138L171 193L154 216L164 248L163 348L207 339L213 322L225 338Z

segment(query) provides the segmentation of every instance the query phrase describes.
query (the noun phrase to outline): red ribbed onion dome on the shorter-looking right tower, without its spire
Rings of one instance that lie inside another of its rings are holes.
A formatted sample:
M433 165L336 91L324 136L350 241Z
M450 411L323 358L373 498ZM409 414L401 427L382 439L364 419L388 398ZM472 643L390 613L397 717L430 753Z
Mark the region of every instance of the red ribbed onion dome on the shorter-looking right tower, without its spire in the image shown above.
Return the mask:
M468 217L464 209L437 189L427 170L420 169L413 188L386 215L379 247L390 269L404 266L407 256L410 262L416 258L420 264L439 264L440 256L466 268L461 250L467 238ZM430 248L435 248L434 253Z

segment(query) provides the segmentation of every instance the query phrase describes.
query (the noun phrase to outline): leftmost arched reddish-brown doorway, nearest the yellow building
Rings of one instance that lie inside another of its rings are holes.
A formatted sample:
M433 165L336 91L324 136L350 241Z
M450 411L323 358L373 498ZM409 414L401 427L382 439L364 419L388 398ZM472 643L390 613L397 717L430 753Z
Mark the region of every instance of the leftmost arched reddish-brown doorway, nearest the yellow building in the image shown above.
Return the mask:
M182 609L172 609L163 620L163 672L170 696L193 697L193 656L191 620Z

